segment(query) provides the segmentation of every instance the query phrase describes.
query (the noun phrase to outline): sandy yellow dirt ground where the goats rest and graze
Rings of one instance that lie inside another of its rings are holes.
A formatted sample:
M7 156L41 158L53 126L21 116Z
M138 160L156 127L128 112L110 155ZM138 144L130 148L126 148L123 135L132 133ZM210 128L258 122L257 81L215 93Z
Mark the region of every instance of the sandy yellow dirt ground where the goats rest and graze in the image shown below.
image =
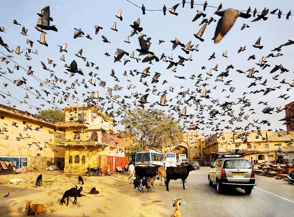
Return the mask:
M176 195L164 194L165 186L155 182L155 193L137 192L134 185L130 185L127 173L112 176L91 176L84 179L82 194L86 197L78 197L77 204L73 204L74 198L70 197L69 204L61 205L60 200L64 191L74 187L78 188L78 175L64 174L63 171L45 171L41 187L35 188L37 176L40 172L23 173L15 175L0 175L0 198L10 192L9 197L2 198L0 204L1 216L26 216L25 204L31 201L33 204L44 204L46 214L39 216L170 216L174 208L171 204L172 197ZM13 178L24 179L26 182L10 184ZM88 194L92 187L96 187L100 193ZM137 190L138 191L138 190ZM163 197L164 196L164 197ZM168 202L167 202L168 201ZM168 204L168 207L167 207ZM94 214L94 215L93 215Z

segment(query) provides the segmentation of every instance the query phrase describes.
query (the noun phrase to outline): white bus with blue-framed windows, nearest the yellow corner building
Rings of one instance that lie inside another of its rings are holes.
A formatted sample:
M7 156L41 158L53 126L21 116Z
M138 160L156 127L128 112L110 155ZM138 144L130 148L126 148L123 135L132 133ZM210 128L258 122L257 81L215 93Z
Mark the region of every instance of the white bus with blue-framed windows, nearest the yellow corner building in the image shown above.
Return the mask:
M154 167L162 166L165 162L165 155L162 152L155 150L139 150L136 152L135 166L140 167Z

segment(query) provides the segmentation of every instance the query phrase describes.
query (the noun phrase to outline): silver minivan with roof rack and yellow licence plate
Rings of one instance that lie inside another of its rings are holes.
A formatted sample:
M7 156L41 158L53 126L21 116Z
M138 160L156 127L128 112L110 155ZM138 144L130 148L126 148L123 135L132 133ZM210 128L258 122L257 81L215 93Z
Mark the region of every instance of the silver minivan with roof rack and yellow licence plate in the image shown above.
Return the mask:
M210 166L208 183L217 185L217 193L226 187L241 188L251 194L255 186L254 169L249 160L239 155L222 155Z

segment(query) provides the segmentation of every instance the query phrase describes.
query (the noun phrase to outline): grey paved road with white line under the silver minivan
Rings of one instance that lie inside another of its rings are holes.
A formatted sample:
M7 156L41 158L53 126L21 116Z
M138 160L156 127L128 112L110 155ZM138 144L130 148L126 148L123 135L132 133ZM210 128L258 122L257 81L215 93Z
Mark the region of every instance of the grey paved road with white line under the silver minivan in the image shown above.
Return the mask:
M255 175L257 186L251 195L242 189L218 194L216 186L208 185L209 167L190 172L183 190L180 180L172 180L168 195L181 198L182 216L292 216L294 185L283 180ZM186 203L185 203L186 202Z

